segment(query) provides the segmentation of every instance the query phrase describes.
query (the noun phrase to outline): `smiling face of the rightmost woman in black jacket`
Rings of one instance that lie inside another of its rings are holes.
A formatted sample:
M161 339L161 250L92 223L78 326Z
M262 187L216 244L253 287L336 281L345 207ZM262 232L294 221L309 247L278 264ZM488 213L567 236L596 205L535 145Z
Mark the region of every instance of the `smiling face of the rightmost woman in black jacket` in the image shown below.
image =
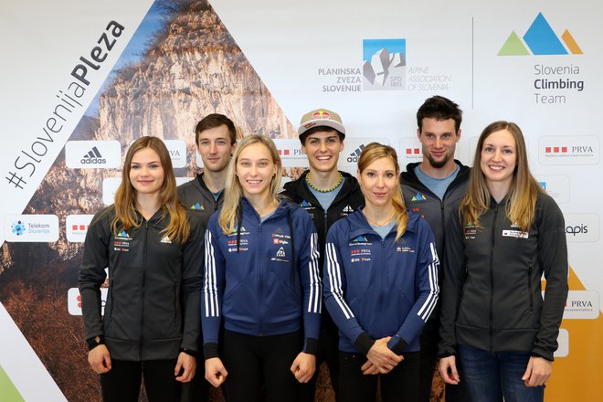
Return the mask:
M492 132L481 146L481 172L486 184L502 186L508 190L517 165L517 148L513 134L508 130Z

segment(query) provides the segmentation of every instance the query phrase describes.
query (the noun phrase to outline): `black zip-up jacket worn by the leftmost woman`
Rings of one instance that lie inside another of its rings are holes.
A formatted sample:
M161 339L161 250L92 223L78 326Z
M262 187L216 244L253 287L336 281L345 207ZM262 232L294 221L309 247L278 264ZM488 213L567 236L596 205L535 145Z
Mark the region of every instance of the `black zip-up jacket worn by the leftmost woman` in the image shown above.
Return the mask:
M181 349L198 352L205 226L187 212L184 244L162 230L159 210L138 228L111 233L114 206L92 219L84 243L79 292L85 337L104 336L111 357L129 361L174 359ZM109 292L100 315L100 285L109 267Z

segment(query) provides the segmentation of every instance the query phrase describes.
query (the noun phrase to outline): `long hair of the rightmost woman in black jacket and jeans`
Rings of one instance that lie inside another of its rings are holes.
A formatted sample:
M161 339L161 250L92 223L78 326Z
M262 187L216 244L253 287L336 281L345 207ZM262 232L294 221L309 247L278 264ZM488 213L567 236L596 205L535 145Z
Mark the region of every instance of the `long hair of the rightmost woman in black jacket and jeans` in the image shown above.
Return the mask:
M527 151L525 148L524 134L514 122L492 122L481 132L475 149L473 167L467 185L467 193L460 201L459 216L463 226L480 224L480 217L490 206L490 190L486 177L481 171L481 149L483 143L492 134L506 130L511 132L515 140L516 166L513 172L513 180L509 188L509 200L505 206L505 214L523 231L529 230L534 222L536 198L543 189L534 176L530 173L528 166Z

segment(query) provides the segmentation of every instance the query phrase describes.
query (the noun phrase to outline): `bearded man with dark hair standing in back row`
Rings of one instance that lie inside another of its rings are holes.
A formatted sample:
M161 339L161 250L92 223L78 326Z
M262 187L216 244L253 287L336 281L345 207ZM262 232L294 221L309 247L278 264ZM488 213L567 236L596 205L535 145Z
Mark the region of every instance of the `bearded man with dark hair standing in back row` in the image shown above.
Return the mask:
M422 162L407 164L400 175L407 209L425 217L436 237L441 277L446 270L444 227L458 217L460 199L465 195L470 168L454 159L460 141L462 111L455 102L441 96L425 100L417 111L417 136L422 145ZM431 314L421 334L421 402L429 402L431 380L438 360L439 307ZM468 401L463 386L446 385L446 400Z

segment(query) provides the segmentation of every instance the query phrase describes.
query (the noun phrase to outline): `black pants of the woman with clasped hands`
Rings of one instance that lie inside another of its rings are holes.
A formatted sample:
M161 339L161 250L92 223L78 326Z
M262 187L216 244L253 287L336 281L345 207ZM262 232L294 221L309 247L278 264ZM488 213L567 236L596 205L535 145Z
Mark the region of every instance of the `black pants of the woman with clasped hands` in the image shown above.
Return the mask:
M379 379L383 402L418 402L418 352L404 354L387 374L365 376L365 363L364 354L339 353L339 402L374 402Z

